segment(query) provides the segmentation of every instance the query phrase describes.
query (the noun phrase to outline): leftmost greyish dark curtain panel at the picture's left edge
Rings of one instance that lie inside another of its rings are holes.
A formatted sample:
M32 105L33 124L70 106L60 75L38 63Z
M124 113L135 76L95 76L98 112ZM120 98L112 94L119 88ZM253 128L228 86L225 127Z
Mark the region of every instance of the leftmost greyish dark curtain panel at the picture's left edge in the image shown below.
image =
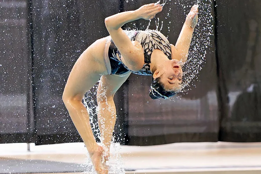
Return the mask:
M27 9L26 1L0 3L0 143L27 142L33 132Z

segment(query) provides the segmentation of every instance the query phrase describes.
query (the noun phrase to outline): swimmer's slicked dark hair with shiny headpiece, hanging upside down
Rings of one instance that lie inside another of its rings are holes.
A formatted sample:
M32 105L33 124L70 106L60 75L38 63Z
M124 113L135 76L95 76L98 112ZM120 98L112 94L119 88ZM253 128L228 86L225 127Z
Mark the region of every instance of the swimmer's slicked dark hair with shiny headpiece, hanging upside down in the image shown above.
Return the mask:
M168 97L171 97L176 94L177 94L176 92L165 90L159 78L157 79L152 78L151 88L149 92L149 95L152 99L158 99L158 98L168 99Z

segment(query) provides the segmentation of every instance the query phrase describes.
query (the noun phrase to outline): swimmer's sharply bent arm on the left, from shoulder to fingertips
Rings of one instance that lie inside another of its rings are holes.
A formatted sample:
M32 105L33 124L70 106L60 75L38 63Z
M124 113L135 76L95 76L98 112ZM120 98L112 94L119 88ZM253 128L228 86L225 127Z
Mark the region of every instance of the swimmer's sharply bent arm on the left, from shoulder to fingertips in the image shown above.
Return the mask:
M122 30L122 26L125 23L135 21L137 19L152 19L155 14L162 11L162 6L159 4L147 4L141 6L134 11L127 11L115 14L105 19L105 25L110 33L110 36L121 53L123 63L131 70L135 71L137 67L137 61L140 60L140 56L143 56L143 50L141 45L133 45L129 37ZM139 68L137 68L139 70Z

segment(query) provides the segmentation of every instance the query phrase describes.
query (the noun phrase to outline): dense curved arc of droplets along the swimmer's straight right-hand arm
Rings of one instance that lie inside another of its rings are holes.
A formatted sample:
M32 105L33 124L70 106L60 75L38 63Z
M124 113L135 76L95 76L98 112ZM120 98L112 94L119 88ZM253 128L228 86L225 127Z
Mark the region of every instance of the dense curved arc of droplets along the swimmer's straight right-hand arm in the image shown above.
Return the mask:
M179 1L180 3L180 1ZM195 87L195 81L198 81L199 72L206 63L207 50L211 48L211 36L213 36L213 16L212 16L212 1L197 1L199 5L199 19L197 26L194 29L194 34L189 49L189 57L184 65L184 83L183 94L187 94Z

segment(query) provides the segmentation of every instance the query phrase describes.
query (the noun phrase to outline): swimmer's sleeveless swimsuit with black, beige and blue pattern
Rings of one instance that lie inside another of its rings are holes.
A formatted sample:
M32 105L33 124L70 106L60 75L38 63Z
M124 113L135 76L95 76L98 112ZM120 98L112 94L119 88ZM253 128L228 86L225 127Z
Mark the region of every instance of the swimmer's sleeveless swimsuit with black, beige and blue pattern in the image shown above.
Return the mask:
M150 71L151 53L155 49L161 50L168 59L171 60L171 45L168 39L157 30L146 30L146 31L127 31L124 32L128 35L131 41L138 41L144 50L144 65L141 70L133 72L138 75L152 75ZM108 57L110 60L111 73L116 75L122 75L131 71L126 67L121 60L121 53L111 40Z

